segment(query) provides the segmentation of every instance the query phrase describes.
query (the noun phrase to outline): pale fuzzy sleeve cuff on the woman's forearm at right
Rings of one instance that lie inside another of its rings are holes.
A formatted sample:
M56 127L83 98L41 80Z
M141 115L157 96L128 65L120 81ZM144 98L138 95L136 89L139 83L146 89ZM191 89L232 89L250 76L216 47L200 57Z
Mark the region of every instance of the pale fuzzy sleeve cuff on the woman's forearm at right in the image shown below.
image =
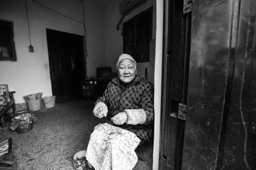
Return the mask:
M146 112L143 109L127 109L127 124L138 125L143 124L146 121Z

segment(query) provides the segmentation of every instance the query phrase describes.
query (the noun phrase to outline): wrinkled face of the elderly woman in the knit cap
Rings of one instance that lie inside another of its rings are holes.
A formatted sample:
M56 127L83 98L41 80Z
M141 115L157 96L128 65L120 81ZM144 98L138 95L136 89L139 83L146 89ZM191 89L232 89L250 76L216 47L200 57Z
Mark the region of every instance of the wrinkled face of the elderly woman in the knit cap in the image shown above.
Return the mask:
M134 62L132 62L130 59L123 59L118 68L118 76L119 79L124 83L131 82L134 77L136 76L137 71L134 65Z

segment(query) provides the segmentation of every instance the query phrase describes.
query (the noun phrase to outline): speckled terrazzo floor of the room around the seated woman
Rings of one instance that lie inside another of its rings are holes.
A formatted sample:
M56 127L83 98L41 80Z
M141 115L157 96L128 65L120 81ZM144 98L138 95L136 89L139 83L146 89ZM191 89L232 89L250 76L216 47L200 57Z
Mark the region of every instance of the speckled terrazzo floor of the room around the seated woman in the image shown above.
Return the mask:
M0 127L0 142L12 138L17 170L76 170L73 156L86 150L93 128L103 122L92 114L94 102L57 98L53 108L42 106L39 111L27 112L37 118L31 131L19 134L9 127ZM138 159L134 170L151 170L153 140L138 150L149 164Z

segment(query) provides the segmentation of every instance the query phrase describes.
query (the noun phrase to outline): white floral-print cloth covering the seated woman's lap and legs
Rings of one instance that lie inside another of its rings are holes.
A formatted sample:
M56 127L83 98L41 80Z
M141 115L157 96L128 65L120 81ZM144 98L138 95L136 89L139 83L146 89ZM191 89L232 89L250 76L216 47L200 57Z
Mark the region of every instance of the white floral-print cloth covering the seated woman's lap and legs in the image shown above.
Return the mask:
M134 133L100 124L90 136L86 158L96 170L131 170L137 163L134 150L139 143Z

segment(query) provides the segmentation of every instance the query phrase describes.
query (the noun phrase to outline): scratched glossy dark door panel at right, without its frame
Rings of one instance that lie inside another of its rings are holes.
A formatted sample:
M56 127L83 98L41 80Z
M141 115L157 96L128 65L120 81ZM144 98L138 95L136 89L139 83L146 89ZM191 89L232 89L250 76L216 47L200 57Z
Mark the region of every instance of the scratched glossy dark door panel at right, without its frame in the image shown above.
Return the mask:
M255 0L193 3L183 170L256 167L255 9Z

